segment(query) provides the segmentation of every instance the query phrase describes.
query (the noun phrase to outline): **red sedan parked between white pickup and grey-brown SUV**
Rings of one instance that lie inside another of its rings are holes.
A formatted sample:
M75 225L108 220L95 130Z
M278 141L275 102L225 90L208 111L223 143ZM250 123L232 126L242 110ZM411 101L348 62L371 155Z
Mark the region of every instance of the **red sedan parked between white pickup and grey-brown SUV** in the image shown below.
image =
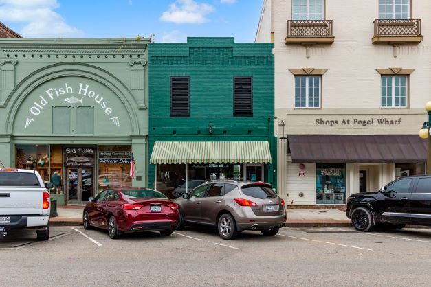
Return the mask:
M83 220L85 229L108 229L113 239L140 231L160 231L162 236L170 236L179 224L179 212L178 205L157 190L120 187L89 198Z

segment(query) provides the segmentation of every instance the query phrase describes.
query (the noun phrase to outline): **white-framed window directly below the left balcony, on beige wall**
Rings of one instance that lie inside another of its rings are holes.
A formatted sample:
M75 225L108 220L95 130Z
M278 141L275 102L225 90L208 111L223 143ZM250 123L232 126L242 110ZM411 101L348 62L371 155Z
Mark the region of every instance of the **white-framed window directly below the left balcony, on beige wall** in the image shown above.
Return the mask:
M295 76L295 108L320 108L321 76Z

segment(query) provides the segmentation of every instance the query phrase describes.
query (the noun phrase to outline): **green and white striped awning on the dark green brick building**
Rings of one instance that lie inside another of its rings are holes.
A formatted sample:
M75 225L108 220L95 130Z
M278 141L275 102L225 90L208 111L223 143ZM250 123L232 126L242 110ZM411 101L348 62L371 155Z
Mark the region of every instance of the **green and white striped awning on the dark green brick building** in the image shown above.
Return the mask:
M267 141L156 141L150 162L271 163Z

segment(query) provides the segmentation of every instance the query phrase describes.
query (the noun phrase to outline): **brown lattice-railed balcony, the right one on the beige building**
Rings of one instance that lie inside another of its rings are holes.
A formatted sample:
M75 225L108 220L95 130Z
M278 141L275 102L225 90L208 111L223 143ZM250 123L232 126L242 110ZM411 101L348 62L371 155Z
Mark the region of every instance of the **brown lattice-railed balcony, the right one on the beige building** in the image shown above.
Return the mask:
M376 19L373 44L421 43L421 19Z

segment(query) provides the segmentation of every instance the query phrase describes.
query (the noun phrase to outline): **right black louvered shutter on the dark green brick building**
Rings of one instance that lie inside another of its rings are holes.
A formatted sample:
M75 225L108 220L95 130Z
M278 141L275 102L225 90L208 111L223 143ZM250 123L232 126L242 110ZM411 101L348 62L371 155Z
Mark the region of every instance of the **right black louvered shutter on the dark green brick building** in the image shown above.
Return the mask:
M253 116L253 78L234 77L234 115Z

